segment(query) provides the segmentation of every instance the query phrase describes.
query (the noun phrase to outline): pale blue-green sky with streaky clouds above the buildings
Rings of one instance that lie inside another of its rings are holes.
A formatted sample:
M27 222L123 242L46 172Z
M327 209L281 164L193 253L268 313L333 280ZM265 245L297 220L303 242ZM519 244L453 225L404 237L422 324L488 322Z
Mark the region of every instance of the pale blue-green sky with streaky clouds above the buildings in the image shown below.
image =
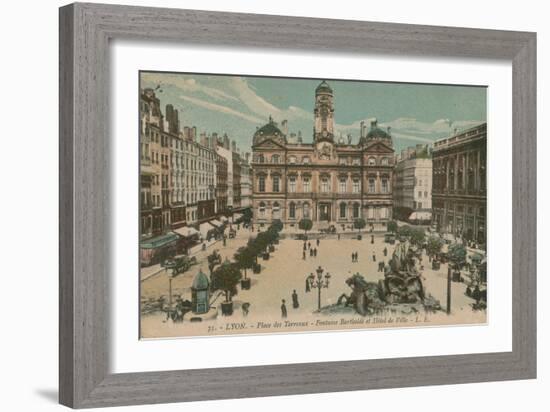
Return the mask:
M250 150L252 135L272 116L287 119L290 132L312 140L315 87L322 79L142 72L141 88L157 89L166 104L179 110L182 125L199 132L227 133L241 150ZM401 150L430 143L486 121L484 87L328 80L334 90L336 132L359 139L359 122L378 120L391 127Z

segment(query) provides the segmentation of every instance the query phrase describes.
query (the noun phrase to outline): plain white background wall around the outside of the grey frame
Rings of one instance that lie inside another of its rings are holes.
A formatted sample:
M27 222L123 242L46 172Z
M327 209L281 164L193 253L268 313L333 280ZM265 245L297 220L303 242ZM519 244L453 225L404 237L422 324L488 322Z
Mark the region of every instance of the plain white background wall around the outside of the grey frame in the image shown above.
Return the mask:
M109 1L105 1L111 3ZM126 4L195 8L250 13L389 21L528 30L538 32L539 248L548 241L548 185L544 184L550 152L548 125L542 113L550 108L542 97L548 83L550 27L544 2L524 0L440 1L387 0L337 2L278 0L130 1ZM2 4L0 30L2 76L2 228L0 302L2 302L0 377L3 410L59 410L57 399L57 170L58 170L58 11L60 1L9 1ZM503 222L504 225L509 224ZM539 253L540 261L544 253ZM188 411L213 409L256 411L344 408L446 412L464 410L544 410L548 377L549 305L545 265L539 265L539 378L441 387L388 389L277 398L201 402ZM171 411L182 405L142 406L122 410ZM117 409L121 410L121 409Z

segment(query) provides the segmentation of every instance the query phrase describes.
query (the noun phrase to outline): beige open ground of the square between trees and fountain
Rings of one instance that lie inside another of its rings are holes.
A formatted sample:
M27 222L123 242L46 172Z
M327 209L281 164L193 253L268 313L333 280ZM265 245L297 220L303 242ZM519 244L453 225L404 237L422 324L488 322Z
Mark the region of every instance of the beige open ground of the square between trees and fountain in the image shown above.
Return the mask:
M223 258L233 256L237 248L246 244L250 232L247 230L239 231L236 239L228 240L225 248L212 246L210 250L216 248L219 250ZM317 247L314 240L311 240L312 247ZM384 247L388 248L388 256L383 256ZM384 243L383 236L375 236L375 243L370 243L370 235L365 234L363 240L337 238L322 239L317 247L317 257L309 257L306 253L306 260L302 259L303 241L284 239L276 246L276 251L271 254L268 261L260 260L262 264L262 272L260 274L252 274L248 271L248 276L252 279L252 287L250 290L239 290L237 296L233 298L235 302L235 313L230 318L218 317L216 323L220 322L237 322L242 321L243 314L240 310L242 302L250 303L250 313L245 320L248 322L262 320L274 321L281 320L281 300L286 300L288 310L288 320L311 320L320 317L314 312L317 309L317 289L312 289L309 293L305 292L306 276L320 265L325 271L331 274L329 288L321 291L321 305L329 305L337 302L338 297L343 293L349 294L350 288L346 285L345 280L353 273L359 272L368 281L377 282L383 279L383 274L378 272L378 262L380 259L387 262L393 252L394 246ZM351 253L358 252L359 262L352 263ZM210 253L210 251L208 251ZM373 260L373 253L376 256L376 261ZM207 264L205 263L205 253L202 253L200 263L194 266L191 271L176 277L173 280L173 294L181 295L183 299L191 299L190 286L191 282L202 267L207 273ZM445 308L447 296L447 265L442 265L441 270L433 271L428 268L428 258L423 257L423 262L426 269L423 271L423 281L427 292L433 295L441 302L441 306ZM450 318L442 314L436 316L437 323L456 323L458 319L452 320L458 316L467 323L485 322L485 314L473 313L470 304L473 300L464 294L466 284L452 283L452 313ZM291 294L296 290L299 296L300 307L292 308ZM157 298L160 295L168 296L168 275L166 272L161 272L142 282L142 297ZM219 304L220 298L216 304ZM313 314L313 316L312 316ZM357 316L353 314L353 316ZM349 316L348 316L349 317ZM326 316L324 316L326 318ZM162 336L185 335L186 328L189 328L189 323L173 324L172 322L163 322L163 315L149 315L143 317L142 330L147 335L147 331L160 333ZM205 322L208 323L208 322ZM204 328L204 325L202 325ZM270 330L273 332L273 330ZM189 331L187 330L187 333ZM200 333L204 334L204 333ZM158 335L157 335L158 336Z

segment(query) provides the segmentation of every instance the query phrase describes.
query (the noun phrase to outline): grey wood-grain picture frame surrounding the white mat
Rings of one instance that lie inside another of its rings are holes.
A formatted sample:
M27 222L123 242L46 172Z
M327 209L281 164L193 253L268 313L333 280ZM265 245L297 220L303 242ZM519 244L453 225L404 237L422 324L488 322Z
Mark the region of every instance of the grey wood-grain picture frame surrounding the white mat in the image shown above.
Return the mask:
M88 408L536 377L535 33L81 3L62 7L59 16L62 404ZM111 374L111 39L511 61L512 351Z

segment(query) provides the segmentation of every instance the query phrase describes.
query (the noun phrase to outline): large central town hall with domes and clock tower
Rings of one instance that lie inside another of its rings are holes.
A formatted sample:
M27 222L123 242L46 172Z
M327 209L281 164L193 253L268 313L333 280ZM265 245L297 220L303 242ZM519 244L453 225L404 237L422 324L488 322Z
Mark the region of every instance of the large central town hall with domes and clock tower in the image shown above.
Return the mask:
M256 223L281 219L297 224L386 223L392 214L394 149L389 130L376 120L352 144L335 141L334 95L322 82L315 90L313 143L289 142L270 118L252 144L253 216Z

